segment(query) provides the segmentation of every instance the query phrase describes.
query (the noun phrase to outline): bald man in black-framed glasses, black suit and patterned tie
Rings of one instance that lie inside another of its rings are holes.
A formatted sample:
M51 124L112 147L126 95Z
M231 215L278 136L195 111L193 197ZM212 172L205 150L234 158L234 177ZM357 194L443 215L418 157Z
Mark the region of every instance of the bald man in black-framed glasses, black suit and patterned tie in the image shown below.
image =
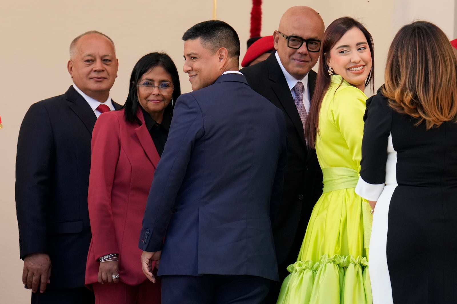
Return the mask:
M313 206L322 194L322 171L314 149L306 144L303 124L314 93L324 21L310 7L294 6L274 31L276 52L266 61L240 72L249 85L286 113L288 155L281 207L273 225L279 277L297 260ZM298 88L301 86L301 88ZM276 303L280 284L271 288L268 303Z

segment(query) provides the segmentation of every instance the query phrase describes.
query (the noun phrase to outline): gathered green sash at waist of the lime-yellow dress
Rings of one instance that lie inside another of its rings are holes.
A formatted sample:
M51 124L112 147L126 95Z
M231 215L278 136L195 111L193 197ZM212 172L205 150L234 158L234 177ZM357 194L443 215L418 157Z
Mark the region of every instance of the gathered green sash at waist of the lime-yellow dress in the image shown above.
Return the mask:
M356 170L345 167L322 168L322 175L324 175L323 193L355 188L359 180L359 173Z

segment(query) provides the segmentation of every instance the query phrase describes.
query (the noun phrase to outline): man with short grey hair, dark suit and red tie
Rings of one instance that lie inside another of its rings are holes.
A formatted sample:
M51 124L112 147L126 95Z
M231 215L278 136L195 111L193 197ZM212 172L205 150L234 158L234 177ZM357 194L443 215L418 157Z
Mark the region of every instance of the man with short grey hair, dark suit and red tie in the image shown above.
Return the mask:
M90 140L97 117L121 107L109 97L117 67L111 38L97 31L76 37L68 62L74 85L32 104L22 121L16 213L22 281L32 289L32 303L95 302L84 287Z

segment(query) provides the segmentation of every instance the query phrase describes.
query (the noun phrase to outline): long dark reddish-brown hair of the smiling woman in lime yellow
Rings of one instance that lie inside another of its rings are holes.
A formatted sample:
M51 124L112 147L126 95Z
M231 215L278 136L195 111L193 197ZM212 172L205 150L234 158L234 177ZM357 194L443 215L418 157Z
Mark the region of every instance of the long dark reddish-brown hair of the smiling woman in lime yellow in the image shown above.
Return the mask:
M365 81L365 88L369 82L372 82L372 90L374 91L374 48L373 38L359 21L351 17L341 17L333 21L324 33L324 39L320 48L319 70L316 80L316 88L314 89L313 98L311 98L311 107L309 109L308 118L305 124L305 136L308 138L308 144L314 148L317 134L319 133L319 111L324 99L325 93L330 86L330 75L328 74L329 66L327 59L330 56L330 50L335 44L340 41L344 34L352 28L358 28L367 39L372 57L372 69Z

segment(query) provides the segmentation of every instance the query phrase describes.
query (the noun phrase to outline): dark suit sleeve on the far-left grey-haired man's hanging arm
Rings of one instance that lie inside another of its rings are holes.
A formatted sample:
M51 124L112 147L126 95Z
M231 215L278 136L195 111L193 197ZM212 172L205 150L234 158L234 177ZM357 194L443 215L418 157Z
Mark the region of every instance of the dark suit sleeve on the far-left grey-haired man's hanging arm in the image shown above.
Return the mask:
M20 256L48 253L48 207L54 178L55 147L49 113L41 103L27 111L16 155L16 215Z

